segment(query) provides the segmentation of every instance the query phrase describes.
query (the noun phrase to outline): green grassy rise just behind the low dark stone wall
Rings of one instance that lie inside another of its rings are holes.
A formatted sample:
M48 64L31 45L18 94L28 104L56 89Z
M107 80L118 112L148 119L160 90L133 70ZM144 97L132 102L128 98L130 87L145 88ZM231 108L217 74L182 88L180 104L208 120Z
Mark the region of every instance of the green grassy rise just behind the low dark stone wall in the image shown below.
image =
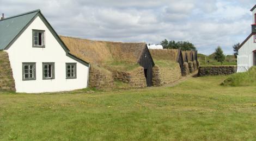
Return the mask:
M201 66L219 66L221 65L221 62L218 62L214 59L214 54L211 54L209 56L204 54L197 54L198 60L200 61ZM208 63L209 61L209 63ZM236 58L234 55L227 55L225 57L225 61L223 62L223 65L236 65Z

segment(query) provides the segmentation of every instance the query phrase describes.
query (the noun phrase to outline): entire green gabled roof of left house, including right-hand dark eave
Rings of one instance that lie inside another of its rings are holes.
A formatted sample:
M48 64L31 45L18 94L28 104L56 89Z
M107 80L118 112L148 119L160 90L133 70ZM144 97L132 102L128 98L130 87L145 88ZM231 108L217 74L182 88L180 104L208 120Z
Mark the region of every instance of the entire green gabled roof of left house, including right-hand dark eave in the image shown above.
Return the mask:
M42 22L44 22L46 27L51 31L52 35L59 42L60 46L65 50L66 56L71 57L72 59L82 63L85 66L89 66L88 62L83 61L70 53L70 50L60 39L44 15L41 14L39 9L0 20L0 50L8 49L11 44L13 44L16 39L23 33L23 31L27 29L28 25L30 25L38 16L41 18Z

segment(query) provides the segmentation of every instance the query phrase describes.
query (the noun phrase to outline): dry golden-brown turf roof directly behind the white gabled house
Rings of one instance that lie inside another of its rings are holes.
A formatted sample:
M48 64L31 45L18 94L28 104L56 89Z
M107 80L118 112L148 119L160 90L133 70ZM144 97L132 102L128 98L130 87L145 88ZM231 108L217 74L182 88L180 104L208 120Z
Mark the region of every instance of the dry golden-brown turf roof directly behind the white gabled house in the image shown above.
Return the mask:
M145 48L144 43L92 41L65 36L60 38L72 54L93 65L107 68L109 68L108 65L113 67L117 65L116 69L126 69L126 67L120 67L121 63L125 66L137 66L137 61ZM132 67L127 67L127 69L130 68Z

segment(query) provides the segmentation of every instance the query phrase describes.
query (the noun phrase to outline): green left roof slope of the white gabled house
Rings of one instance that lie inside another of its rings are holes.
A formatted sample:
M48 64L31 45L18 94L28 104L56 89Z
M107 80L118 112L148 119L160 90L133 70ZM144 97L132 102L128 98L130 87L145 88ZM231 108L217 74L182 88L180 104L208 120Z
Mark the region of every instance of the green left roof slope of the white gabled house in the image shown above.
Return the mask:
M5 18L0 21L0 50L8 47L40 10Z

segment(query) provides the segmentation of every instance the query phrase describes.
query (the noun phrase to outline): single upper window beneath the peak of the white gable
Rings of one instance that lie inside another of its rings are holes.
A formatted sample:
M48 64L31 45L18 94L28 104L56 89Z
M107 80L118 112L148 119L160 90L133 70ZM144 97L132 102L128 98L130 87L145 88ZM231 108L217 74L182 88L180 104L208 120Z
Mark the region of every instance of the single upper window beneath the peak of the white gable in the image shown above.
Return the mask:
M44 30L33 30L33 47L45 47Z

